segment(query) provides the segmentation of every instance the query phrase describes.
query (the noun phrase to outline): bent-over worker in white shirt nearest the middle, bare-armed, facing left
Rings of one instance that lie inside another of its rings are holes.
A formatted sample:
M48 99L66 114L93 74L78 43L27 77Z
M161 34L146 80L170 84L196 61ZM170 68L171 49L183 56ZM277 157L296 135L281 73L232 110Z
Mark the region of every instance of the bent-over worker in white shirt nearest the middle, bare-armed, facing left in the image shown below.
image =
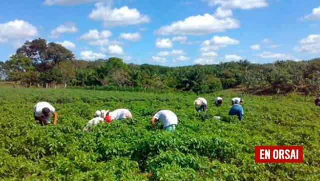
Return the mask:
M170 110L160 110L152 117L150 121L153 128L156 121L162 122L164 130L173 132L178 124L178 117Z

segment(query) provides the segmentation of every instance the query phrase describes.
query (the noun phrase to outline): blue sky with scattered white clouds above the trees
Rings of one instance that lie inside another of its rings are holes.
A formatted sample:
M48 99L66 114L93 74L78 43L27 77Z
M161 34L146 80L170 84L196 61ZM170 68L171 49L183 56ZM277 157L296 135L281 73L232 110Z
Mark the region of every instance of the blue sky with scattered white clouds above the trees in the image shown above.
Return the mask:
M0 61L35 38L88 61L309 60L320 57L320 0L1 0Z

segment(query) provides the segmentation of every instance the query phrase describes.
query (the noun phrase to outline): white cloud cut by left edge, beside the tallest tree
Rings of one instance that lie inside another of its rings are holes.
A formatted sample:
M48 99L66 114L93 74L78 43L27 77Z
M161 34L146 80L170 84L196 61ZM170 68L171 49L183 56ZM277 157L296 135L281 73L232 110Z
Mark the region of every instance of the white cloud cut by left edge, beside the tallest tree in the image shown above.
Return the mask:
M12 40L12 43L17 43L38 35L37 28L23 20L15 19L14 21L0 23L0 43L9 40Z

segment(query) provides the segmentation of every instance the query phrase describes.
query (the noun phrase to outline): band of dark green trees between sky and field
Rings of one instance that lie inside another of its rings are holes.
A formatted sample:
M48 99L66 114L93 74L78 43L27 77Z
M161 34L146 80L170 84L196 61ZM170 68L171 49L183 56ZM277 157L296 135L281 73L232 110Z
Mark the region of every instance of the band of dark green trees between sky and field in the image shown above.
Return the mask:
M80 87L118 87L211 93L241 87L249 93L316 93L320 87L320 59L253 64L247 60L216 65L166 67L126 64L112 57L76 60L74 54L45 39L26 41L6 62L0 76L22 86L63 84Z

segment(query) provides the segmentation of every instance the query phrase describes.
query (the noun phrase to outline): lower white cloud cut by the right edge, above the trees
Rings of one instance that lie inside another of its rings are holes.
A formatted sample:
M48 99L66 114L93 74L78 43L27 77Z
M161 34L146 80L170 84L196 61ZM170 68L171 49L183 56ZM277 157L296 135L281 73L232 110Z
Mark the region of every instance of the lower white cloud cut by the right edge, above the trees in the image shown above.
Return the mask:
M320 54L320 34L311 34L299 42L300 46L295 46L295 51L311 54Z

